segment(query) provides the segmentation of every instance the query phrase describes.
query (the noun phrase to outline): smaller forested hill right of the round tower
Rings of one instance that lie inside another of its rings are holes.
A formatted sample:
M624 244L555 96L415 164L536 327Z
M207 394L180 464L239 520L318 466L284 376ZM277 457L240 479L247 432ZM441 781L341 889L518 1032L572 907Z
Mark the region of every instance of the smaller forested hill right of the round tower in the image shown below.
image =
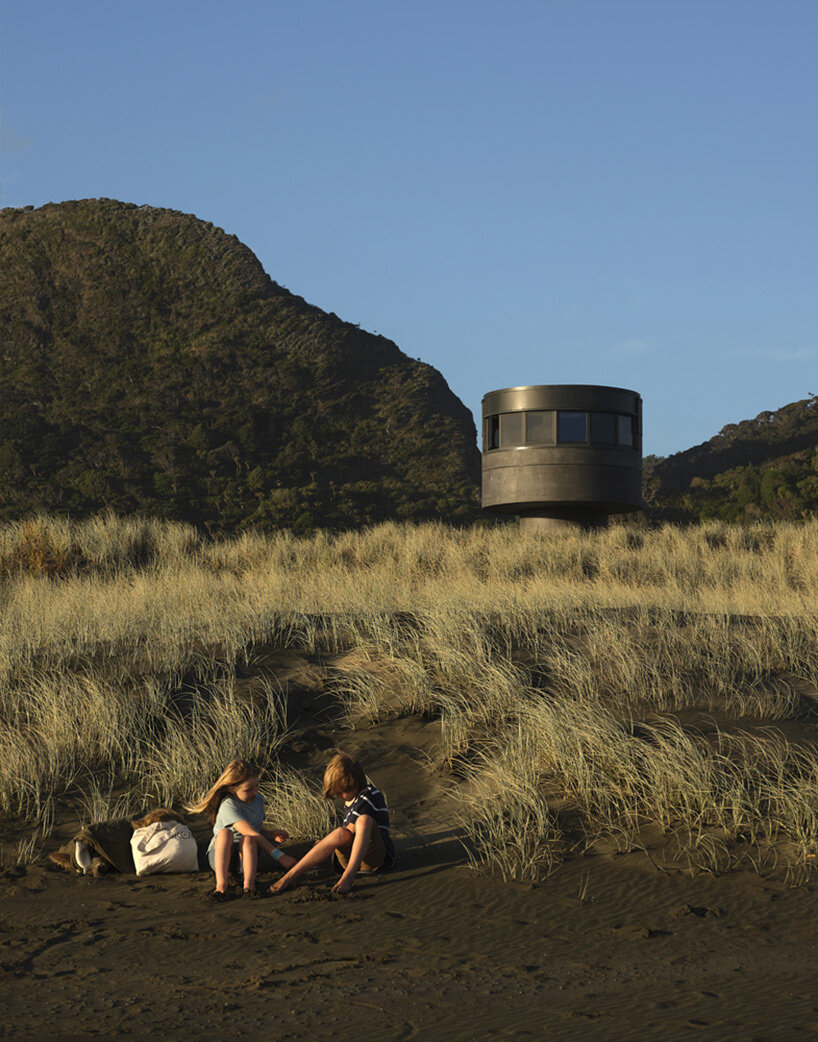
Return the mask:
M818 513L818 398L732 423L703 445L645 460L649 516L798 519Z

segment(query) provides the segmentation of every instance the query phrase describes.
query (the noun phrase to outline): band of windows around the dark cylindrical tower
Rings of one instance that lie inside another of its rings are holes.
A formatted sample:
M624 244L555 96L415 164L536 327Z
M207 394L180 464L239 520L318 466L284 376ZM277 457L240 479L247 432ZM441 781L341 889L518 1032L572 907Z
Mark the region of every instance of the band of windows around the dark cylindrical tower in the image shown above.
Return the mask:
M484 452L521 445L636 447L635 417L568 410L498 413L484 421Z

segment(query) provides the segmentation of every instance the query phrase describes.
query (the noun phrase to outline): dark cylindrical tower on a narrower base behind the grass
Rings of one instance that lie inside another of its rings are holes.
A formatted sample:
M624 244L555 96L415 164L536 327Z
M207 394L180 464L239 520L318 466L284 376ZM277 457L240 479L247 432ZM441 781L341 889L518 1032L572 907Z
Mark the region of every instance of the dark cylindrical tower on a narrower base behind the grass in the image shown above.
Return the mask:
M592 384L490 391L482 508L526 528L599 527L642 507L642 398Z

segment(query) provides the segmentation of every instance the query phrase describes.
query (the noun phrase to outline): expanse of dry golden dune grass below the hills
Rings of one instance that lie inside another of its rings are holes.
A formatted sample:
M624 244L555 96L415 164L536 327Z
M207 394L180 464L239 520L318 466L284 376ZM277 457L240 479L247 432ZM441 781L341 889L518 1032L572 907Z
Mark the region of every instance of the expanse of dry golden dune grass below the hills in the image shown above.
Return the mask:
M672 714L810 716L816 537L816 522L387 524L209 543L139 519L6 525L0 809L47 832L60 794L96 816L126 797L181 802L242 753L267 766L277 820L314 835L325 809L278 756L286 694L236 685L264 646L332 656L326 688L353 723L440 718L475 867L536 878L577 843L628 847L650 826L693 865L786 849L801 877L813 748Z

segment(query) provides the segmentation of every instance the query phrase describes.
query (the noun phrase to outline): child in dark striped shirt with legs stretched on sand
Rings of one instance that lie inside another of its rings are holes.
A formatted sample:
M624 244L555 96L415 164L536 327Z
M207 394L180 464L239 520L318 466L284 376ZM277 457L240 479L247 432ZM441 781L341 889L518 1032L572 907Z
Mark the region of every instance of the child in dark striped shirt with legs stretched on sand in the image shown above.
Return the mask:
M339 752L324 771L324 799L344 800L344 821L308 850L270 890L280 893L296 885L316 865L334 854L343 874L332 892L345 894L358 869L377 872L395 860L389 828L389 808L379 789L367 782L364 768L346 752Z

